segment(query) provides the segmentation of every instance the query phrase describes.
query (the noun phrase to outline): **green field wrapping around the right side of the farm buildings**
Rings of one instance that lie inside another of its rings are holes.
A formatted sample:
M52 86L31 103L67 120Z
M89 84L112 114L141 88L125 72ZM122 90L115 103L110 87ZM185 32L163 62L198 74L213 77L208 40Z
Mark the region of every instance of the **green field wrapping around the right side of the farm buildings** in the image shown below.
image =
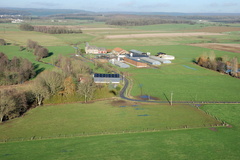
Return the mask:
M158 47L136 47L144 52L150 51L157 53L159 51L174 55L176 60L171 65L163 65L160 69L121 69L127 71L133 76L134 87L132 95L140 94L139 84L143 84L144 94L159 97L166 100L164 94L169 98L171 92L174 93L174 100L188 101L239 101L240 89L239 79L222 75L218 72L201 68L192 64L192 60L203 52L210 52L210 49L204 49L192 46L158 46ZM228 55L229 57L239 54L214 51L217 56ZM186 68L186 66L192 68ZM226 83L227 82L227 83Z

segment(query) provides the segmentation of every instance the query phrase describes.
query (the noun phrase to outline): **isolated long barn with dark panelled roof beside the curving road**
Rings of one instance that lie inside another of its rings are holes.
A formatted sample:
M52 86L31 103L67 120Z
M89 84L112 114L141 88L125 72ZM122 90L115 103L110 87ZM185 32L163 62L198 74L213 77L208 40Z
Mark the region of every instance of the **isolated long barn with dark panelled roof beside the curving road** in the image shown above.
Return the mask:
M93 79L95 83L120 83L121 81L120 74L95 73Z

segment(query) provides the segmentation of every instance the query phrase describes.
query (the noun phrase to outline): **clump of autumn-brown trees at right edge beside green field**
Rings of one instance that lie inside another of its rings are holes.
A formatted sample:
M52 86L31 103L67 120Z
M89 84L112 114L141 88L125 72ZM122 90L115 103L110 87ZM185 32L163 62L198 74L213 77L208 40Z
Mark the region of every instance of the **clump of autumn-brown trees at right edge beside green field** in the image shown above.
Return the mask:
M227 56L216 57L214 52L204 53L197 58L196 63L204 68L208 68L221 73L228 73L233 77L240 78L239 64L237 57L229 59Z

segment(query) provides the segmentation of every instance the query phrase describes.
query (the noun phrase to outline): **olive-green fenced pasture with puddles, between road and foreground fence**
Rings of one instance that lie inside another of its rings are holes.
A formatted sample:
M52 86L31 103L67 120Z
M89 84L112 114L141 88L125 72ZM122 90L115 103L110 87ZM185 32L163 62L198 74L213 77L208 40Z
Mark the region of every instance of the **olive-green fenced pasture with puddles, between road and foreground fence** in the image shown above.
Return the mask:
M0 125L0 139L58 137L71 134L122 133L123 130L204 127L220 124L191 106L139 105L112 106L110 101L38 107ZM148 116L142 116L148 115ZM189 121L191 119L191 121Z

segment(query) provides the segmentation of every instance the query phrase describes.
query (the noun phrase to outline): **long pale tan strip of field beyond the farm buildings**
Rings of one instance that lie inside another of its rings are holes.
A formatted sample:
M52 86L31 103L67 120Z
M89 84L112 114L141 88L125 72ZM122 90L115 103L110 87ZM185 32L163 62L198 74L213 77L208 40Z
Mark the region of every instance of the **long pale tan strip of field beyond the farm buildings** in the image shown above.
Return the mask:
M146 37L189 37L189 36L212 36L224 35L221 33L207 33L207 32L193 32L193 33L150 33L150 34L126 34L126 35L108 35L107 39L120 39L120 38L146 38Z

